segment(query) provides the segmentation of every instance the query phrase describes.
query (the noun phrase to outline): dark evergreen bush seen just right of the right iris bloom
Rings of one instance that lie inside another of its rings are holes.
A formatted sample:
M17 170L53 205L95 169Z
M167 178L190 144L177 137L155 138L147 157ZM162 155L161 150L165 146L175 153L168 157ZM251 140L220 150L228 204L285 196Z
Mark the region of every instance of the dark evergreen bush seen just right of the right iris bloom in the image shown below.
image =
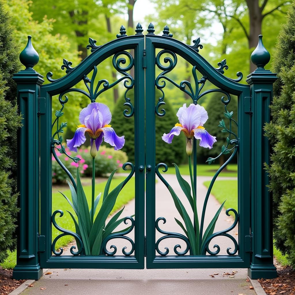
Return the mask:
M211 150L209 149L200 149L199 152L201 155L204 155L206 157L213 156L214 158L219 155L219 153L222 150L223 145L227 145L227 137L229 136L228 132L221 132L222 128L219 127L219 122L224 120L225 125L227 129L229 129L229 120L224 115L224 104L221 102L222 94L217 93L214 94L207 106L206 111L208 112L208 120L204 124L204 127L206 130L213 136L216 136L217 142L214 143L213 148ZM230 103L227 105L227 110L229 112L233 112L232 119L235 119L237 121L237 98L236 96L231 97ZM232 123L232 132L237 134L237 125ZM231 139L234 139L233 136L231 136ZM231 148L231 146L229 146ZM222 165L225 161L224 155L219 157L219 164Z

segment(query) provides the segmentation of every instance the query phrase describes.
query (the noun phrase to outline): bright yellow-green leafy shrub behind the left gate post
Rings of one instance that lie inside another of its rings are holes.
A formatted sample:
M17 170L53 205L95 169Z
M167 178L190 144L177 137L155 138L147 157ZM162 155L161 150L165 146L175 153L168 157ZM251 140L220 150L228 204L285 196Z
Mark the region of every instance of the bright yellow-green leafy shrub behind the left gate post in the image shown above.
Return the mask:
M52 35L54 19L47 19L44 15L41 22L35 21L32 18L32 12L29 11L30 1L28 0L7 0L6 3L6 9L11 13L12 24L15 27L14 35L20 43L21 50L27 44L27 36L32 35L32 44L40 56L39 63L34 67L38 73L46 76L48 72L53 72L54 79L64 76L65 72L60 68L63 58L73 62L73 66L78 65L80 60L77 51L71 50L67 38L59 34ZM19 47L17 51L20 52ZM49 83L46 78L45 83ZM68 97L69 102L66 106L71 108L71 112L65 112L63 120L68 122L69 128L76 129L81 111L80 104L86 105L86 98L78 93L71 93ZM60 107L58 98L53 97L53 110L58 110Z

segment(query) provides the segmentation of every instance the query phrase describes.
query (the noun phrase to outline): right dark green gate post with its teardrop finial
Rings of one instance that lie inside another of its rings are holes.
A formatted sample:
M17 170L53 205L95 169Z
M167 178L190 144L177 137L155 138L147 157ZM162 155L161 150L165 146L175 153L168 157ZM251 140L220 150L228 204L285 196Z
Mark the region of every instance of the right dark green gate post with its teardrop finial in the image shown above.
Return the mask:
M269 163L270 146L263 127L270 121L269 105L272 101L275 73L266 70L270 54L263 46L262 35L251 55L257 69L247 76L251 89L251 236L252 253L248 275L252 279L275 278L273 265L272 197L268 191L268 173L264 163Z

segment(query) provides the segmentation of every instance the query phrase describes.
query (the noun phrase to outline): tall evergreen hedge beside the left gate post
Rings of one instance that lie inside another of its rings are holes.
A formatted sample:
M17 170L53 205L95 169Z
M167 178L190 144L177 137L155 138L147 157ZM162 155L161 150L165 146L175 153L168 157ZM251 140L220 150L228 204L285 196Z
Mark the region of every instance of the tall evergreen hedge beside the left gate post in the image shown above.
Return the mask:
M16 239L16 144L21 117L17 114L16 86L12 74L20 69L19 46L13 37L11 17L0 1L0 262Z

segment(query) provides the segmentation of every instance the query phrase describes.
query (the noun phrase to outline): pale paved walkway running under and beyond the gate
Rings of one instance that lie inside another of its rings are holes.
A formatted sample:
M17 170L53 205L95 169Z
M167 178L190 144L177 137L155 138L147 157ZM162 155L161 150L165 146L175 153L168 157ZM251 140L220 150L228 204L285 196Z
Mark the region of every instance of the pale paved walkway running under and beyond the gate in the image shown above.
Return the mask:
M184 176L189 182L189 176ZM165 179L171 184L174 191L180 197L186 208L189 203L183 195L181 188L174 175L166 174ZM218 180L235 179L219 177ZM197 203L199 216L204 202L207 188L204 181L211 180L211 177L199 176L197 180ZM209 224L215 212L220 207L217 200L211 195L209 198L205 226ZM124 215L131 215L134 212L134 200L125 207ZM174 217L177 218L173 200L163 183L158 180L156 184L156 216L166 218L166 224L160 227L165 231L181 232ZM179 217L180 219L180 217ZM215 231L229 227L233 222L231 217L225 214L225 209L219 215ZM206 228L206 227L205 227ZM229 232L237 238L237 228ZM160 237L157 234L157 238ZM132 235L130 235L132 237ZM165 242L164 242L165 241ZM160 250L165 247L170 249L169 255L173 255L173 248L181 244L179 240L166 239L160 243ZM123 239L112 240L112 244L122 249L127 246ZM219 254L226 254L228 247L233 247L232 241L225 237L216 237L210 243L210 249L214 250L212 244L218 244L221 248ZM182 244L184 247L184 244ZM121 247L122 246L122 247ZM128 249L127 249L128 251ZM120 253L118 253L120 255ZM114 270L114 269L49 269L51 275L45 275L22 292L25 294L135 294L135 295L180 295L180 294L255 294L249 289L250 283L246 281L247 269L144 269L144 270ZM234 273L223 275L223 273ZM218 273L218 274L217 274ZM210 275L213 275L210 276ZM45 289L46 288L46 289Z

